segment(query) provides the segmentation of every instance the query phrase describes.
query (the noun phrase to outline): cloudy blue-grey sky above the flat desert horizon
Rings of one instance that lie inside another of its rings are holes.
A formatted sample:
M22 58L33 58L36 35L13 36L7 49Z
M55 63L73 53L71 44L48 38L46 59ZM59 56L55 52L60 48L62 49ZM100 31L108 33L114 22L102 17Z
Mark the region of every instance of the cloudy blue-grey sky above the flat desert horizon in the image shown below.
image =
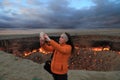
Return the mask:
M0 29L120 28L120 0L0 0Z

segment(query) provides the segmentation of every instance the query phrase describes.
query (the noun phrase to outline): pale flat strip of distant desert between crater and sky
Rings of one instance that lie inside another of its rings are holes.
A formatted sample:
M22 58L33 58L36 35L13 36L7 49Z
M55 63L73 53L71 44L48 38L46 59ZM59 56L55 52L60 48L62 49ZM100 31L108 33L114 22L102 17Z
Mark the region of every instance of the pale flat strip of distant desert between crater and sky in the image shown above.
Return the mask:
M120 36L120 29L1 29L0 35L38 34L40 32L61 34L68 32L71 35L117 35Z

